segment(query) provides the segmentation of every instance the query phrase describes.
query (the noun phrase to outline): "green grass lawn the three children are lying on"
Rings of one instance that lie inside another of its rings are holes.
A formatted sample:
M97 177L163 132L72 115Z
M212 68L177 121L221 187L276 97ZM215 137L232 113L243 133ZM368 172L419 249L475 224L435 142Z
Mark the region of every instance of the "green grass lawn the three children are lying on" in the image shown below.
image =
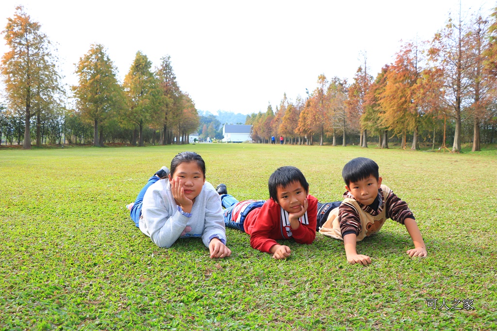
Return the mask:
M238 199L267 199L269 175L294 165L320 201L341 200L343 165L370 157L414 211L428 257L405 253L413 243L394 221L357 245L367 267L348 265L343 243L321 234L309 246L286 242L286 261L232 229L228 259L209 259L200 239L159 248L124 205L182 150L202 155L207 181ZM497 330L496 150L0 150L0 173L0 330Z

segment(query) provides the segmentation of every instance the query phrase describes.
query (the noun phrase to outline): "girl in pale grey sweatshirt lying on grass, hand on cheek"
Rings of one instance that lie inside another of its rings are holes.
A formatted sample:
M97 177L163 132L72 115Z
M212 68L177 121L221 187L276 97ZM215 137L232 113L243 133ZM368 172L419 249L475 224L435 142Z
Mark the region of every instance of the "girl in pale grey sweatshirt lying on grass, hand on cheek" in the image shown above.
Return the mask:
M131 219L159 247L178 238L201 237L211 258L231 255L226 247L221 199L205 181L205 162L194 152L181 152L149 178L135 202L126 206Z

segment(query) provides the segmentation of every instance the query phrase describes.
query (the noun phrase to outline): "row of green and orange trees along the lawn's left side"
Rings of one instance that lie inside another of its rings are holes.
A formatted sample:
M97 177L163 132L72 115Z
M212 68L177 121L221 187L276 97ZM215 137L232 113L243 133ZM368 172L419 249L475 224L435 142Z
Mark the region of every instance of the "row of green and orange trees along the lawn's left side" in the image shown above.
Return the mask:
M155 69L142 52L120 84L117 69L102 45L91 45L76 67L78 85L71 86L74 109L66 106L58 58L41 25L22 6L8 18L1 59L6 103L0 104L0 137L7 143L31 140L61 143L92 141L184 143L197 130L199 117L191 97L180 90L170 57ZM148 134L149 136L145 137ZM35 137L33 139L32 137Z

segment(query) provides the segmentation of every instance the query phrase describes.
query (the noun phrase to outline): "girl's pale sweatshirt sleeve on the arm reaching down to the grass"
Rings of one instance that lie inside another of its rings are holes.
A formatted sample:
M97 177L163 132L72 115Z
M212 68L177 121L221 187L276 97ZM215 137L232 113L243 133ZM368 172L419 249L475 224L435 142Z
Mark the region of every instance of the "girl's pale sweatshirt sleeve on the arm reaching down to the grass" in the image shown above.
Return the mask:
M226 245L226 228L224 225L221 196L217 192L209 192L205 204L205 223L202 242L205 247L213 238L218 238Z

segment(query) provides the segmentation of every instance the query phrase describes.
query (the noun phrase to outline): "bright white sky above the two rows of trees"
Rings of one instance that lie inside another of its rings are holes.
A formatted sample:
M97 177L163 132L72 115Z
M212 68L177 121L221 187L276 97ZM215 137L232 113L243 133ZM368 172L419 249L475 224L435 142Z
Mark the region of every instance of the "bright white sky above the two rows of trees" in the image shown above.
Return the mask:
M458 0L1 0L0 28L22 4L57 44L64 82L102 44L122 82L138 51L153 66L169 55L195 107L242 114L273 110L286 93L305 98L320 74L350 82L364 63L375 77L403 42L430 40L457 17ZM463 18L488 17L497 2L463 0ZM2 35L3 37L3 35ZM7 51L4 39L0 54Z

